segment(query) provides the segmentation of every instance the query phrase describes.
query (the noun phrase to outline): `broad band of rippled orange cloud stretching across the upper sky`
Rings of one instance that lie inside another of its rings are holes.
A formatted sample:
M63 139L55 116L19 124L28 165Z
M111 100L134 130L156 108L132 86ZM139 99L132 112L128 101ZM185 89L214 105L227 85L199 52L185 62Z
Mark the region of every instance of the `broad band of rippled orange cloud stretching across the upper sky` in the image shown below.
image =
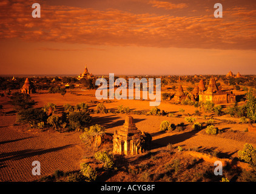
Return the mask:
M223 18L216 19L213 13L200 16L135 14L39 3L41 18L32 18L30 1L2 3L0 37L87 45L256 49L255 11L245 7L229 8Z

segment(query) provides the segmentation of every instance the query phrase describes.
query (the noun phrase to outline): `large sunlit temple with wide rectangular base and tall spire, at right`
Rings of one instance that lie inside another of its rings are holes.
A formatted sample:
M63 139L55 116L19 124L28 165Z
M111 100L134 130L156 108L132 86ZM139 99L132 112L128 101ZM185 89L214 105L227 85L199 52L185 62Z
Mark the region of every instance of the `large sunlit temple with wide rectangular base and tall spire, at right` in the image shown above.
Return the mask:
M199 85L198 85L199 87ZM199 93L199 101L211 101L215 104L235 102L235 95L232 92L224 92L221 87L217 87L214 78L211 78L207 90L201 90Z

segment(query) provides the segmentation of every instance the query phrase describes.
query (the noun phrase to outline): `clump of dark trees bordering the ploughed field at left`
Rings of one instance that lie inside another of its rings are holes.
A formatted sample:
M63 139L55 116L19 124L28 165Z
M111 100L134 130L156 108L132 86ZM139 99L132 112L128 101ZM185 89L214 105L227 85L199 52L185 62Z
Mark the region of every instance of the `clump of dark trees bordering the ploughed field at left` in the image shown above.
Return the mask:
M89 107L84 102L72 105L64 105L64 112L55 113L56 105L48 103L44 107L33 108L36 104L30 95L25 93L13 93L10 96L10 104L14 106L17 113L17 121L30 124L31 127L42 129L45 126L53 127L56 130L83 130L90 124L92 117Z

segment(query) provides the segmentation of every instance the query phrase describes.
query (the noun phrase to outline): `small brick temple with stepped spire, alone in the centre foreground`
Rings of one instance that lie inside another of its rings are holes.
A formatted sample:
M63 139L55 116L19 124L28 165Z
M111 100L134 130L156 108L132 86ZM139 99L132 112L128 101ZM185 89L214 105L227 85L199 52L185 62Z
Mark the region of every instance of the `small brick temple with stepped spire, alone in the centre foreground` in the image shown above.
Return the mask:
M133 117L126 116L123 127L113 135L113 153L136 155L150 149L152 137L137 129Z

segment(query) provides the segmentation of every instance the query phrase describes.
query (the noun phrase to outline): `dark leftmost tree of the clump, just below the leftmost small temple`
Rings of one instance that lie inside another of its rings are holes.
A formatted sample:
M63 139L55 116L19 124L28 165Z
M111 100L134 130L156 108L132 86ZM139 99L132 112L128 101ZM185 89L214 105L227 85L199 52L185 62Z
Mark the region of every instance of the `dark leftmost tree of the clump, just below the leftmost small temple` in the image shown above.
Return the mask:
M12 96L10 96L10 99L10 104L12 104L14 109L17 111L31 109L33 105L37 104L37 102L31 99L31 96L27 93L15 92Z

